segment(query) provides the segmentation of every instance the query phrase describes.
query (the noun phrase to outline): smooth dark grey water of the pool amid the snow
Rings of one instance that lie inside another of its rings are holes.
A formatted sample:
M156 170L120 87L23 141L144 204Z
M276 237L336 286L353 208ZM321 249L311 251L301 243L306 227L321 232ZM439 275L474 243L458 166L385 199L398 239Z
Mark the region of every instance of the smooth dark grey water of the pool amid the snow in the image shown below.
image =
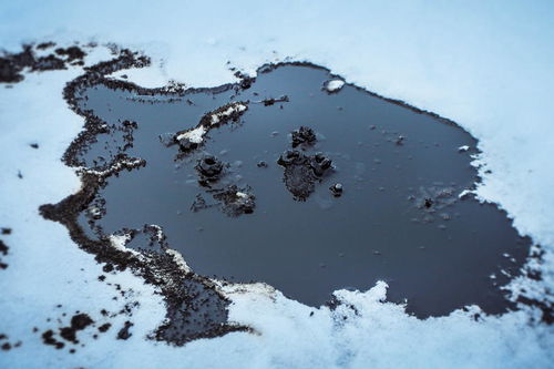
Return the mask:
M407 298L418 316L444 315L468 304L504 310L507 303L495 285L507 281L501 269L516 274L529 240L495 206L458 199L476 181L470 166L476 141L458 126L351 85L329 94L321 89L329 78L321 69L286 65L259 74L240 92L175 99L89 89L82 106L115 129L83 154L88 166L124 148L125 132L116 129L124 120L137 124L133 146L124 152L146 161L101 189L105 215L94 222L102 227L96 232L160 225L196 273L266 281L312 306L329 300L335 289L366 290L382 279L390 286L388 299ZM281 95L289 101L260 103ZM196 126L205 113L228 102L248 100L239 123L213 129L205 145L188 155L158 140ZM304 202L287 191L277 164L291 148L289 133L302 125L318 137L305 153L321 152L335 167ZM472 148L460 152L462 145ZM191 211L197 194L216 204L194 168L205 153L228 164L213 187L249 186L256 196L253 214L233 217L216 205ZM260 161L267 167L259 167ZM335 183L343 186L340 197L329 191ZM85 213L81 219L88 227Z

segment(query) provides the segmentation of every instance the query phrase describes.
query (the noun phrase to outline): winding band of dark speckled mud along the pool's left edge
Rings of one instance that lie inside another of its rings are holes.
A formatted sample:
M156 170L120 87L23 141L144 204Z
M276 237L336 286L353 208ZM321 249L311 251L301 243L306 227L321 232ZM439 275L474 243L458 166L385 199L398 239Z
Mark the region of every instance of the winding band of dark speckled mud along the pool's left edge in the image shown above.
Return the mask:
M142 229L134 232L140 239L140 235L155 240L158 249L145 249L141 255L133 254L125 249L113 247L107 236L91 238L86 234L86 228L92 225L92 221L101 217L101 211L90 213L91 223L83 228L79 222L79 216L91 206L102 206L102 201L98 199L98 192L105 188L109 178L116 178L123 171L132 171L145 166L145 161L138 157L130 157L124 152L133 145L133 121L117 122L106 125L91 111L83 110L78 105L78 95L95 85L111 86L122 91L136 91L143 99L155 94L168 94L167 89L144 90L132 83L123 83L105 78L106 74L129 68L142 68L150 64L148 58L125 49L113 48L114 59L84 68L84 74L68 83L64 89L64 98L70 107L85 119L85 130L74 140L68 148L63 161L70 166L81 166L84 163L80 160L82 153L88 152L92 143L98 143L102 134L117 132L122 145L99 157L94 165L90 167L102 167L102 172L81 172L83 188L59 204L43 205L41 214L52 221L64 224L72 237L84 250L95 255L99 263L104 263L104 271L115 273L131 268L135 274L142 276L147 284L154 284L164 296L167 306L166 322L160 327L152 338L165 340L167 342L183 345L188 340L205 337L215 337L228 331L248 330L246 327L237 327L227 324L228 301L220 296L215 285L207 278L195 275L179 267L178 259L173 254L166 253L167 246L163 243L163 236L153 236L155 226L145 225ZM68 57L71 58L71 57ZM223 86L222 90L232 89ZM171 89L172 93L178 95L178 89ZM177 91L177 92L175 92ZM157 137L156 137L157 139ZM158 140L156 143L160 144ZM107 146L106 146L107 148ZM124 229L120 229L120 234ZM147 247L148 245L146 245ZM209 305L206 309L205 306ZM130 328L130 327L129 327ZM126 328L122 335L131 335ZM44 332L44 341L59 347L60 340L54 338L54 334ZM63 342L62 342L63 344Z

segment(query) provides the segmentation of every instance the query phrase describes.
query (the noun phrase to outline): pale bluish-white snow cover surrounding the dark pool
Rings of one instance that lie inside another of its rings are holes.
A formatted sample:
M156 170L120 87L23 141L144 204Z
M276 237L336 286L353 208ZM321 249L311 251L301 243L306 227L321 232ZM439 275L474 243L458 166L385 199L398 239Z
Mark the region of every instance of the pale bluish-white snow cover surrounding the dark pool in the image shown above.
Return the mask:
M21 42L116 42L154 57L154 68L126 73L146 86L170 79L191 86L233 81L227 61L252 73L268 61L309 60L382 95L447 116L480 140L483 185L515 227L541 244L543 280L514 281L552 301L554 286L554 6L550 2L13 2L0 6L0 47ZM99 51L102 52L102 51ZM105 55L104 55L105 57ZM93 59L102 59L95 55ZM417 320L382 304L386 288L339 291L361 311L342 314L285 299L264 286L229 288L230 319L256 334L235 332L176 348L146 340L163 319L161 299L130 273L109 275L132 287L129 340L88 340L76 355L44 346L32 327L63 309L115 310L115 289L101 284L92 256L63 226L42 219L39 205L79 188L60 157L82 120L61 91L79 71L28 74L0 89L0 236L10 247L0 270L0 331L20 348L0 352L2 367L550 367L554 331L524 308L474 321L472 312ZM29 146L40 143L39 150ZM491 173L485 174L490 170ZM23 178L17 174L21 171ZM531 293L529 293L531 290ZM66 319L66 318L64 318ZM120 325L125 320L120 319ZM64 321L65 322L65 321ZM57 327L55 324L52 327ZM83 335L88 335L86 331Z

